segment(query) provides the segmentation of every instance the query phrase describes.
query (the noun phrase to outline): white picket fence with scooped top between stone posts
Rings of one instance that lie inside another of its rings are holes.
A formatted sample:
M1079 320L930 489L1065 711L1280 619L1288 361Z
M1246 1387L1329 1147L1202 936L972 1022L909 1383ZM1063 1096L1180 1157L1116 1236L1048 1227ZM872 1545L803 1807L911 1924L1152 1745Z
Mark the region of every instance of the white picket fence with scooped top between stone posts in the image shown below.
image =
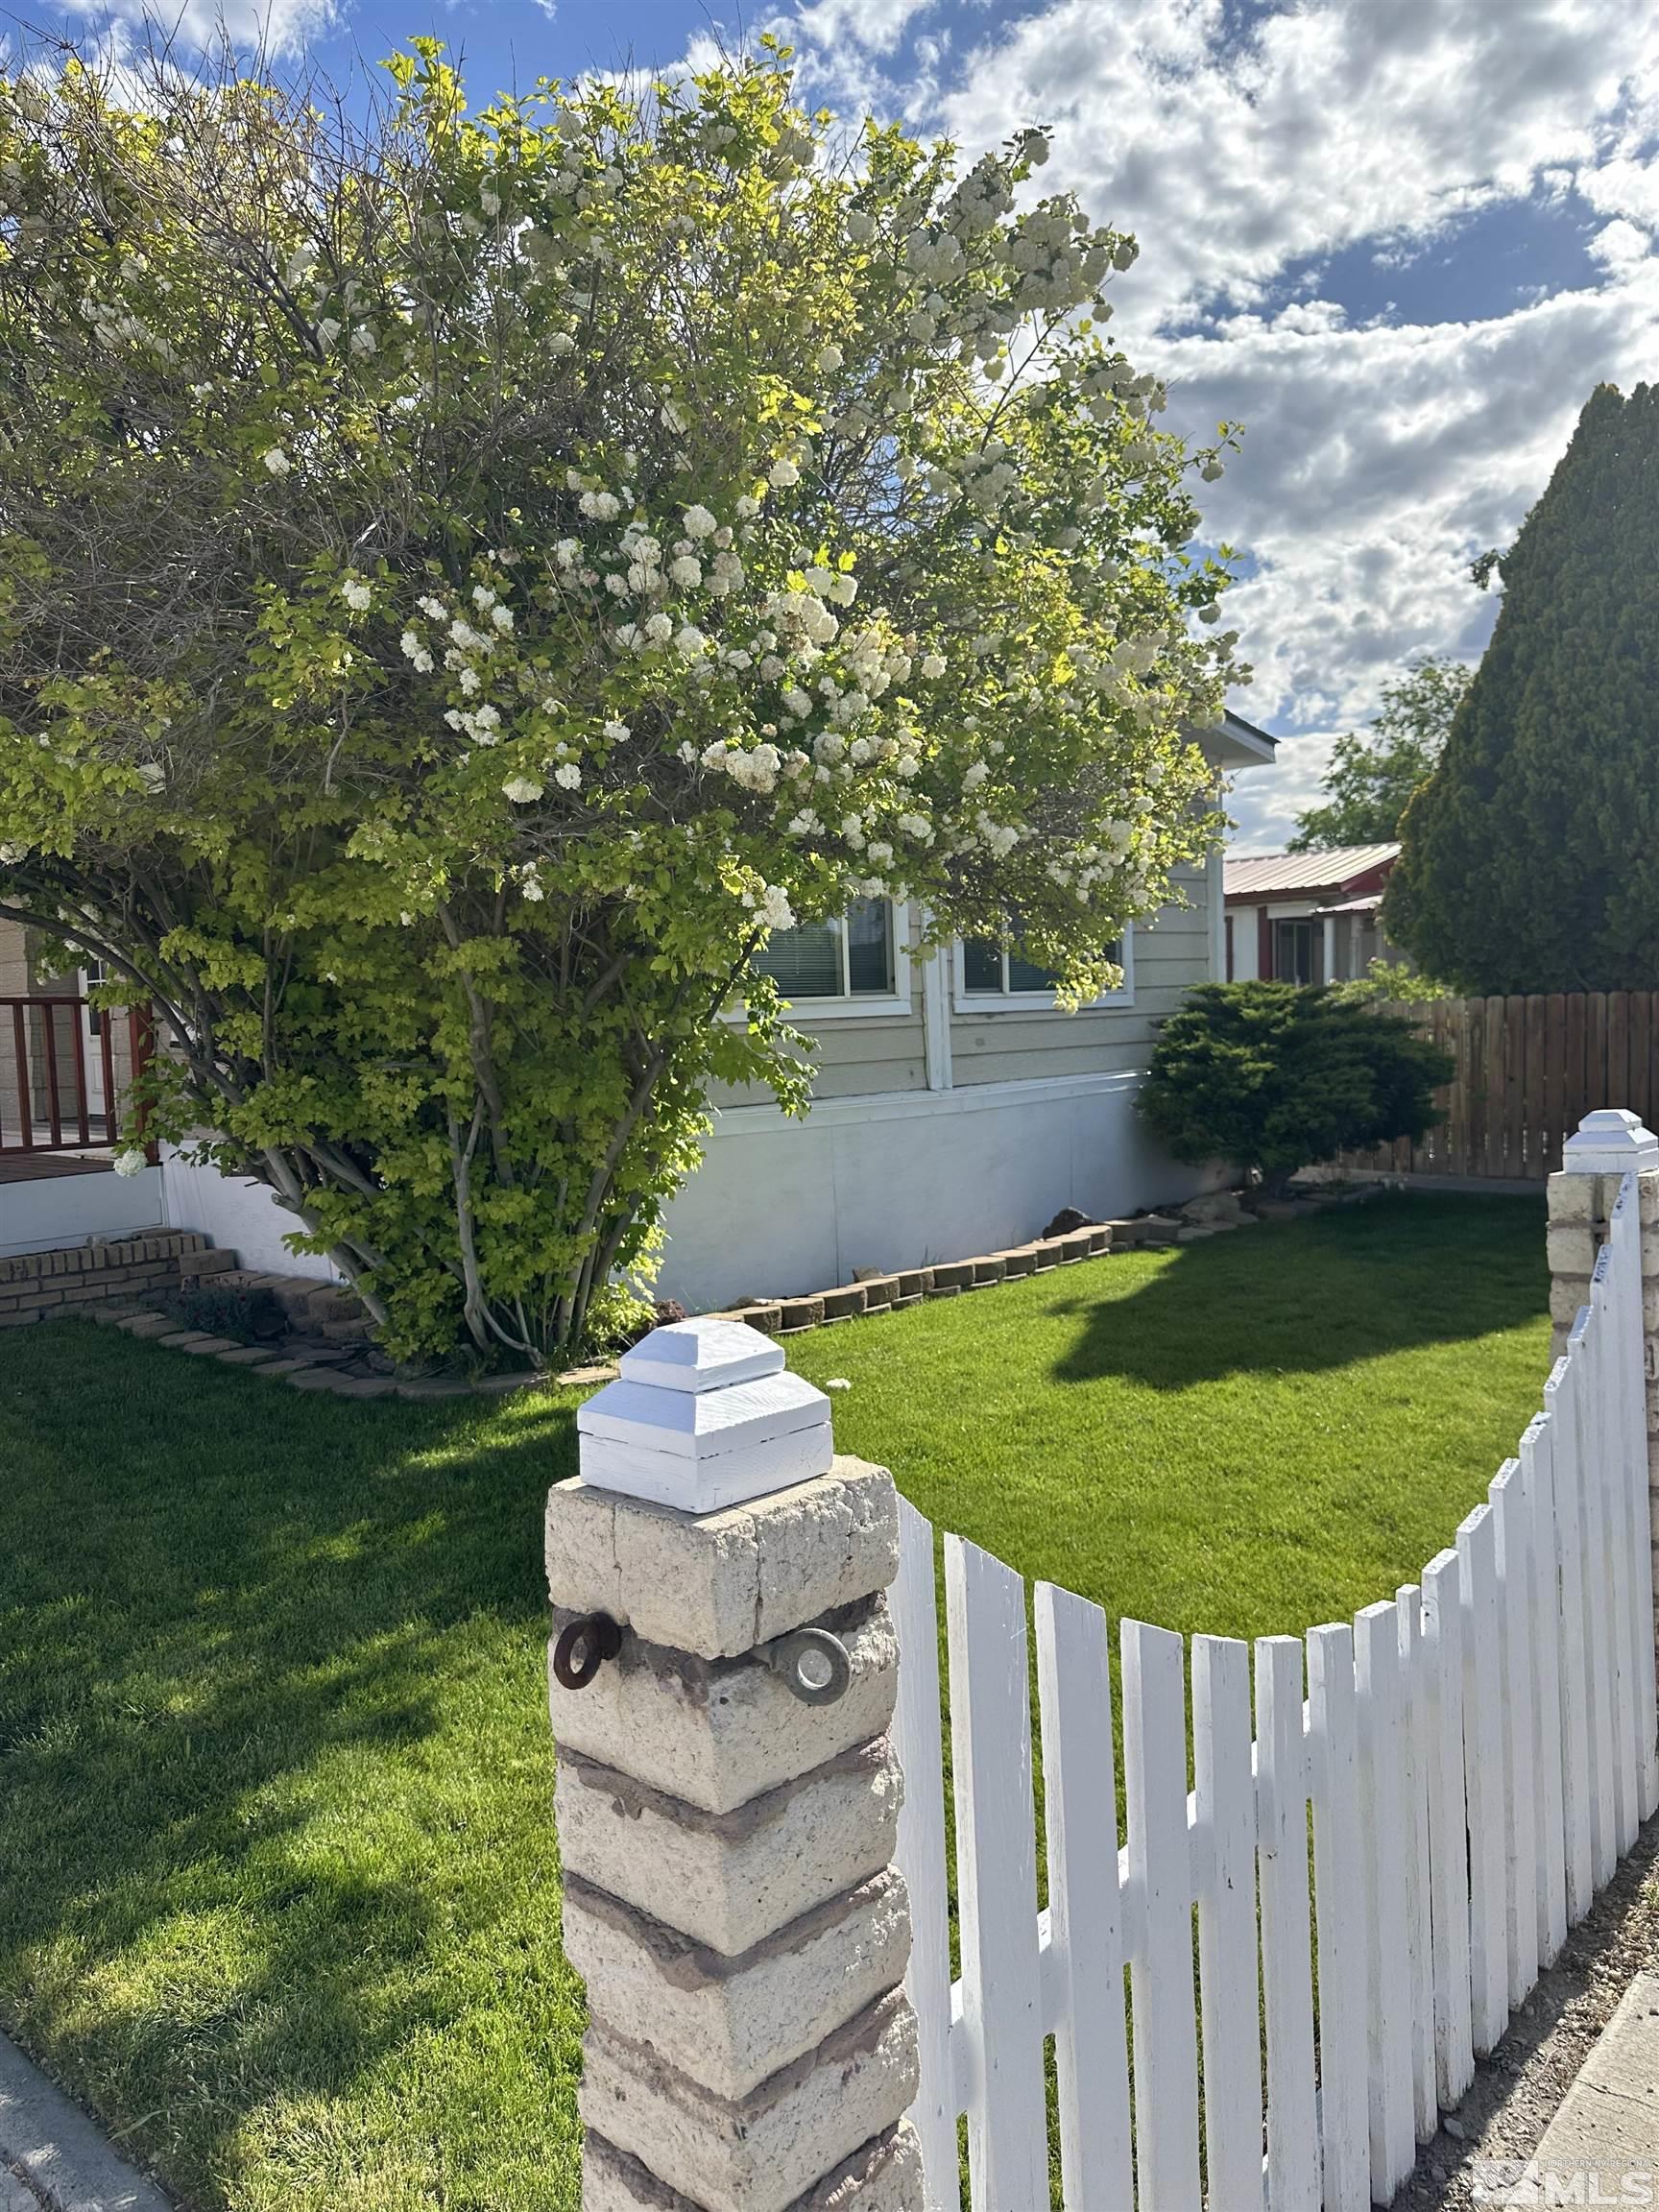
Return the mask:
M1250 1648L1192 1637L1192 1792L1183 1637L1121 1621L1119 1798L1106 1615L1040 1582L1042 1913L1024 1582L947 1535L956 1982L933 1528L902 1509L929 2212L960 2205L960 2115L973 2212L1048 2212L1048 2037L1066 2212L1394 2197L1659 1803L1641 1358L1626 1177L1544 1411L1455 1551L1305 1657L1263 1637L1254 1723Z

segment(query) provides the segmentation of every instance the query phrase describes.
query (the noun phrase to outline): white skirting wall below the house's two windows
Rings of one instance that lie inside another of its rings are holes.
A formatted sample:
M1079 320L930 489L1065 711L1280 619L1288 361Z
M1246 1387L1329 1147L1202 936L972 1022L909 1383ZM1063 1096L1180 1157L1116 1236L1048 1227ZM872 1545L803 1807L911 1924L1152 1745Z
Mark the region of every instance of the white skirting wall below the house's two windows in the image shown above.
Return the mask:
M659 1296L692 1312L849 1283L854 1267L973 1259L1062 1206L1110 1217L1203 1188L1135 1113L1139 1075L964 1084L719 1115L668 1208Z

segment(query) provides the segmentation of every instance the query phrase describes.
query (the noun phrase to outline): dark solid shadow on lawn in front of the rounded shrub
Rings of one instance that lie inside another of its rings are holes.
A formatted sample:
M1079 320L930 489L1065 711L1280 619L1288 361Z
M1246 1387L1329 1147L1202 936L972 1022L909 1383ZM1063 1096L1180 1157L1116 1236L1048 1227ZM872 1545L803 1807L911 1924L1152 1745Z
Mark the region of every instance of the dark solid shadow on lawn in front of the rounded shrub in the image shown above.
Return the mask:
M1548 1310L1542 1232L1542 1199L1400 1192L1210 1237L1124 1296L1055 1305L1082 1329L1053 1376L1179 1391L1522 1327Z

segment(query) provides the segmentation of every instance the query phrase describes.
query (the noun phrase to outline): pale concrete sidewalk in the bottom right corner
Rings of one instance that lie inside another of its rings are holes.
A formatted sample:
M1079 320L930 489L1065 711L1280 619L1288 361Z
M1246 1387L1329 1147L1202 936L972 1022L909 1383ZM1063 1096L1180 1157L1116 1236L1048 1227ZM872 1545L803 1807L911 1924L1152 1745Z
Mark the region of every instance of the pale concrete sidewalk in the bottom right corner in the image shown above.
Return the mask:
M1659 1973L1639 1973L1626 1989L1528 2177L1540 2194L1520 2201L1659 2203Z

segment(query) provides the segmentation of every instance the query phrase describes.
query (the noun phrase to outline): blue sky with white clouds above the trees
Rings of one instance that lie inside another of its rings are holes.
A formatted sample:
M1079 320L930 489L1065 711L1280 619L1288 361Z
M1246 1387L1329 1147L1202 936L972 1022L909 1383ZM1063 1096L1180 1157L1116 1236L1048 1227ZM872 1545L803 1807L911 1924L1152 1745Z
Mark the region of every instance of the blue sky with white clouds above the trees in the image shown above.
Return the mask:
M62 0L60 0L62 4ZM212 0L181 0L206 29ZM97 0L84 24L135 18ZM1659 11L1628 0L223 0L332 71L431 31L480 97L781 31L805 88L967 150L1042 122L1128 226L1117 334L1170 427L1245 425L1206 538L1281 737L1270 849L1332 739L1418 653L1478 657L1509 544L1597 380L1659 378Z

